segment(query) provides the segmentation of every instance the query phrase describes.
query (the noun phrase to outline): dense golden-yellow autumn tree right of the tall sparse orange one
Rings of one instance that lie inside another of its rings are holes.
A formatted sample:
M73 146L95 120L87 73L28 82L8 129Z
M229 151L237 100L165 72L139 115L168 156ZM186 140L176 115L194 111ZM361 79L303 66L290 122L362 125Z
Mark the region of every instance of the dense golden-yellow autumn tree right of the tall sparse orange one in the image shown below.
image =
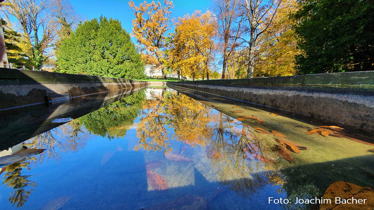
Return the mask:
M196 10L192 15L178 18L174 47L170 52L169 63L183 75L193 78L202 75L209 79L211 64L214 61L217 22L211 12Z

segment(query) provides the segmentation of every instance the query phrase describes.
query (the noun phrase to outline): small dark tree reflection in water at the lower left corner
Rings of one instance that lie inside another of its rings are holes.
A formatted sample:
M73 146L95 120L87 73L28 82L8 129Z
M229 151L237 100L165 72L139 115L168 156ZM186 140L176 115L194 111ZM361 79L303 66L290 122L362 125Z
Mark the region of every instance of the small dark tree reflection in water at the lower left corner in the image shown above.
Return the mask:
M22 168L30 170L28 166L29 161L24 161L20 163L12 163L6 166L6 174L4 175L3 185L15 189L15 191L10 193L8 201L14 206L21 207L25 204L28 196L34 189L25 189L27 187L36 187L37 183L28 180L31 176L22 175Z

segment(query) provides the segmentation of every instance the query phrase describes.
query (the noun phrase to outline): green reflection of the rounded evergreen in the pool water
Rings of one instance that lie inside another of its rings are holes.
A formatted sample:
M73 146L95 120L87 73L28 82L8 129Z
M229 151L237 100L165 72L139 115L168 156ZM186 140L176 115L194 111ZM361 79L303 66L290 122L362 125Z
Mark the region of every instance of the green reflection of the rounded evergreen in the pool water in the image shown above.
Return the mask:
M131 96L113 102L96 111L79 118L85 128L95 134L109 139L126 135L127 130L134 124L144 101L145 93L141 90Z

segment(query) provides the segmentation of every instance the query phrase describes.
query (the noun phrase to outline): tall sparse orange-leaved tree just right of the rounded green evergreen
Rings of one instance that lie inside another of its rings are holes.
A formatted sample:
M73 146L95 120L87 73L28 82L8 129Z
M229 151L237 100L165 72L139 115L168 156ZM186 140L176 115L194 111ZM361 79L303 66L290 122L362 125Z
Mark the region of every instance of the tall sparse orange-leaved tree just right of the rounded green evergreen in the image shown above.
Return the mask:
M163 79L166 80L163 50L166 47L165 33L174 21L170 19L170 10L174 8L173 2L164 0L162 5L159 1L144 1L136 6L134 1L129 1L128 4L135 15L131 35L137 38L142 50L147 50L150 55L156 57L156 68L161 70Z

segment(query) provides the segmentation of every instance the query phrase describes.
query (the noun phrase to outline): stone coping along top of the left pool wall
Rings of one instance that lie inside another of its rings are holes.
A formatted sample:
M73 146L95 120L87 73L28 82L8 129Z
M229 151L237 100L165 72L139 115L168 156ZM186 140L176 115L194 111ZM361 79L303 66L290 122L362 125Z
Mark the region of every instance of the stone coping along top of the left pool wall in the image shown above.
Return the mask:
M0 80L88 80L88 81L113 81L131 83L149 83L149 81L137 81L122 78L100 77L83 74L65 74L47 71L17 70L0 68Z

